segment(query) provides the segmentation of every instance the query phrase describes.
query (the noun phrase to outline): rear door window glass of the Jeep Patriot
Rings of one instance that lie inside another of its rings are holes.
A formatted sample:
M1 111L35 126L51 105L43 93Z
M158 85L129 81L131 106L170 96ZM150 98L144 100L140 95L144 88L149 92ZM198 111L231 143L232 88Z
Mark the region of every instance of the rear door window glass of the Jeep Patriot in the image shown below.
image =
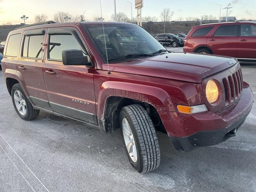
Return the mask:
M42 58L43 35L31 35L28 43L28 57Z

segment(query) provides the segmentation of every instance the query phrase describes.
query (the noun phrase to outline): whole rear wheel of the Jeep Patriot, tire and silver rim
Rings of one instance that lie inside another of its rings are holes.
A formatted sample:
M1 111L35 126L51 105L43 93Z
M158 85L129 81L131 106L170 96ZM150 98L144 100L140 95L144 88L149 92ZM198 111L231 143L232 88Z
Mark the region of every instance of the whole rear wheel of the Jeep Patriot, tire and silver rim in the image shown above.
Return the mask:
M39 115L40 110L33 108L19 83L12 87L12 103L18 116L24 120L32 120Z

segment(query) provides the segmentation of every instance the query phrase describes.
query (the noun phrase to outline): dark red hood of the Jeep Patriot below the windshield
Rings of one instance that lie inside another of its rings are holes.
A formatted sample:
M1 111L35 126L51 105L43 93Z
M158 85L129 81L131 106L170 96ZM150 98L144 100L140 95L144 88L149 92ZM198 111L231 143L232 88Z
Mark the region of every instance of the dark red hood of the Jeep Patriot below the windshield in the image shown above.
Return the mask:
M109 64L114 72L201 83L202 79L236 64L235 58L195 53L169 53ZM107 69L107 65L103 65Z

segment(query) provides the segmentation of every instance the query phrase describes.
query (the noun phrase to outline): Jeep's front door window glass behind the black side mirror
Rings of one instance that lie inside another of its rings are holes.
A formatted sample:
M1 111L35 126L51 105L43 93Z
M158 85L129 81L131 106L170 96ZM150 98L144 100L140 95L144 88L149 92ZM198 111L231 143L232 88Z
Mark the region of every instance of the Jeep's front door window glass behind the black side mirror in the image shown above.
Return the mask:
M69 49L81 50L76 39L71 34L52 34L50 35L48 58L62 60L62 51ZM104 38L104 36L103 36Z

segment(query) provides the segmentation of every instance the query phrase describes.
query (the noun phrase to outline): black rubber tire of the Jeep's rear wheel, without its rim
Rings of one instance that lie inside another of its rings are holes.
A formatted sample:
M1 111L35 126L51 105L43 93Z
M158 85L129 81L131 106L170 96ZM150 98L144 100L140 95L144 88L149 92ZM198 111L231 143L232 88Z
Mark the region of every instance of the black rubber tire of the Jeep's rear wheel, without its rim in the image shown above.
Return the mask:
M20 114L20 112L18 111L17 107L16 107L16 104L14 102L14 92L18 90L22 93L22 96L26 102L26 114L25 115L22 115ZM39 112L40 110L37 110L37 109L34 109L32 104L29 102L28 98L26 97L24 91L22 90L20 84L15 84L13 87L12 87L12 104L14 106L14 109L16 110L16 113L18 114L18 116L20 118L22 118L23 120L32 120L34 118L36 118L38 115L39 115Z

